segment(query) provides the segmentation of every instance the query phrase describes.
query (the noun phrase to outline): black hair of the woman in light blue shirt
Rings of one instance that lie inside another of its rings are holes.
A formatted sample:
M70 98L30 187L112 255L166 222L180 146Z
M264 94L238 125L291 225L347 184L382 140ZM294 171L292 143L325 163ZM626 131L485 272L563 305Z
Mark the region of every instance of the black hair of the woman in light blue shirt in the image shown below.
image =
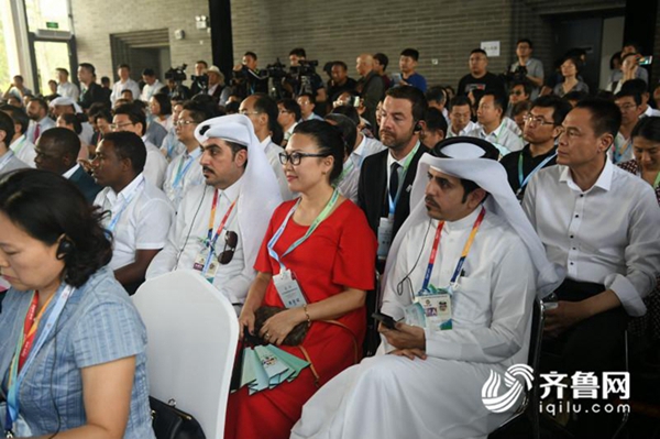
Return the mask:
M44 132L45 133L45 132ZM0 180L0 211L32 238L53 245L62 235L72 244L63 254L64 281L82 286L112 259L112 244L101 226L102 212L80 190L48 171L19 169Z

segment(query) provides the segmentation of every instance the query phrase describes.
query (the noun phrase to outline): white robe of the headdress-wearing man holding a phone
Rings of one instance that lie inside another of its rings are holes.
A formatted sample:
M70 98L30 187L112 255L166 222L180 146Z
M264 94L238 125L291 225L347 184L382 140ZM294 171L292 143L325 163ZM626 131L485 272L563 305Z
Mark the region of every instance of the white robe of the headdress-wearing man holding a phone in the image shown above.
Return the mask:
M444 224L431 284L446 287L481 208ZM382 311L396 320L420 289L437 221L403 238ZM428 233L427 233L428 230ZM425 239L426 237L426 239ZM420 249L420 244L424 248ZM378 354L326 384L302 408L292 438L486 438L510 417L481 399L491 370L527 363L536 272L519 235L487 212L454 288L453 329L426 330L427 360ZM409 278L409 282L406 279ZM400 293L400 295L399 295ZM499 394L504 393L504 384Z

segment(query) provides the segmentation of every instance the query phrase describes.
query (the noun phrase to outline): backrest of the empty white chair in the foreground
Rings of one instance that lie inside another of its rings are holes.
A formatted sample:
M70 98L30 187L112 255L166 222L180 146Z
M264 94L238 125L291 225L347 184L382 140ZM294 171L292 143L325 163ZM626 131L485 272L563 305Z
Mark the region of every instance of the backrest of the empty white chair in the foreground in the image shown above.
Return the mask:
M230 301L193 270L145 282L133 296L146 326L151 396L189 413L207 438L224 432L239 322Z

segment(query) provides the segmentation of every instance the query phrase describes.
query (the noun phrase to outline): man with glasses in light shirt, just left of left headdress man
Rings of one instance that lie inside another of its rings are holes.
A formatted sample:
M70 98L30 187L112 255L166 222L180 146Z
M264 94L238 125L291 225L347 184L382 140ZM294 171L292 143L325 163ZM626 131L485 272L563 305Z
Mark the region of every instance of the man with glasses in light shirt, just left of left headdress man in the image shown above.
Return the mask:
M199 164L201 146L195 138L195 129L211 117L212 114L207 106L196 101L187 101L184 103L184 109L176 121L176 138L186 145L186 151L173 158L167 165L163 190L177 211L184 194L191 187L204 183L201 165Z

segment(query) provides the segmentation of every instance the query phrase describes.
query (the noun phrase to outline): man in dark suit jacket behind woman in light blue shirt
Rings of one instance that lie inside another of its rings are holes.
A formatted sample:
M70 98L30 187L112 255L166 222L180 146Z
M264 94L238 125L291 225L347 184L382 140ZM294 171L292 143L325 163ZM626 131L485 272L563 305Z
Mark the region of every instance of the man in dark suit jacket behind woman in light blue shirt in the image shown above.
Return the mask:
M51 171L68 178L91 205L101 190L94 178L77 163L80 139L66 128L44 131L35 146L34 164L37 169Z

